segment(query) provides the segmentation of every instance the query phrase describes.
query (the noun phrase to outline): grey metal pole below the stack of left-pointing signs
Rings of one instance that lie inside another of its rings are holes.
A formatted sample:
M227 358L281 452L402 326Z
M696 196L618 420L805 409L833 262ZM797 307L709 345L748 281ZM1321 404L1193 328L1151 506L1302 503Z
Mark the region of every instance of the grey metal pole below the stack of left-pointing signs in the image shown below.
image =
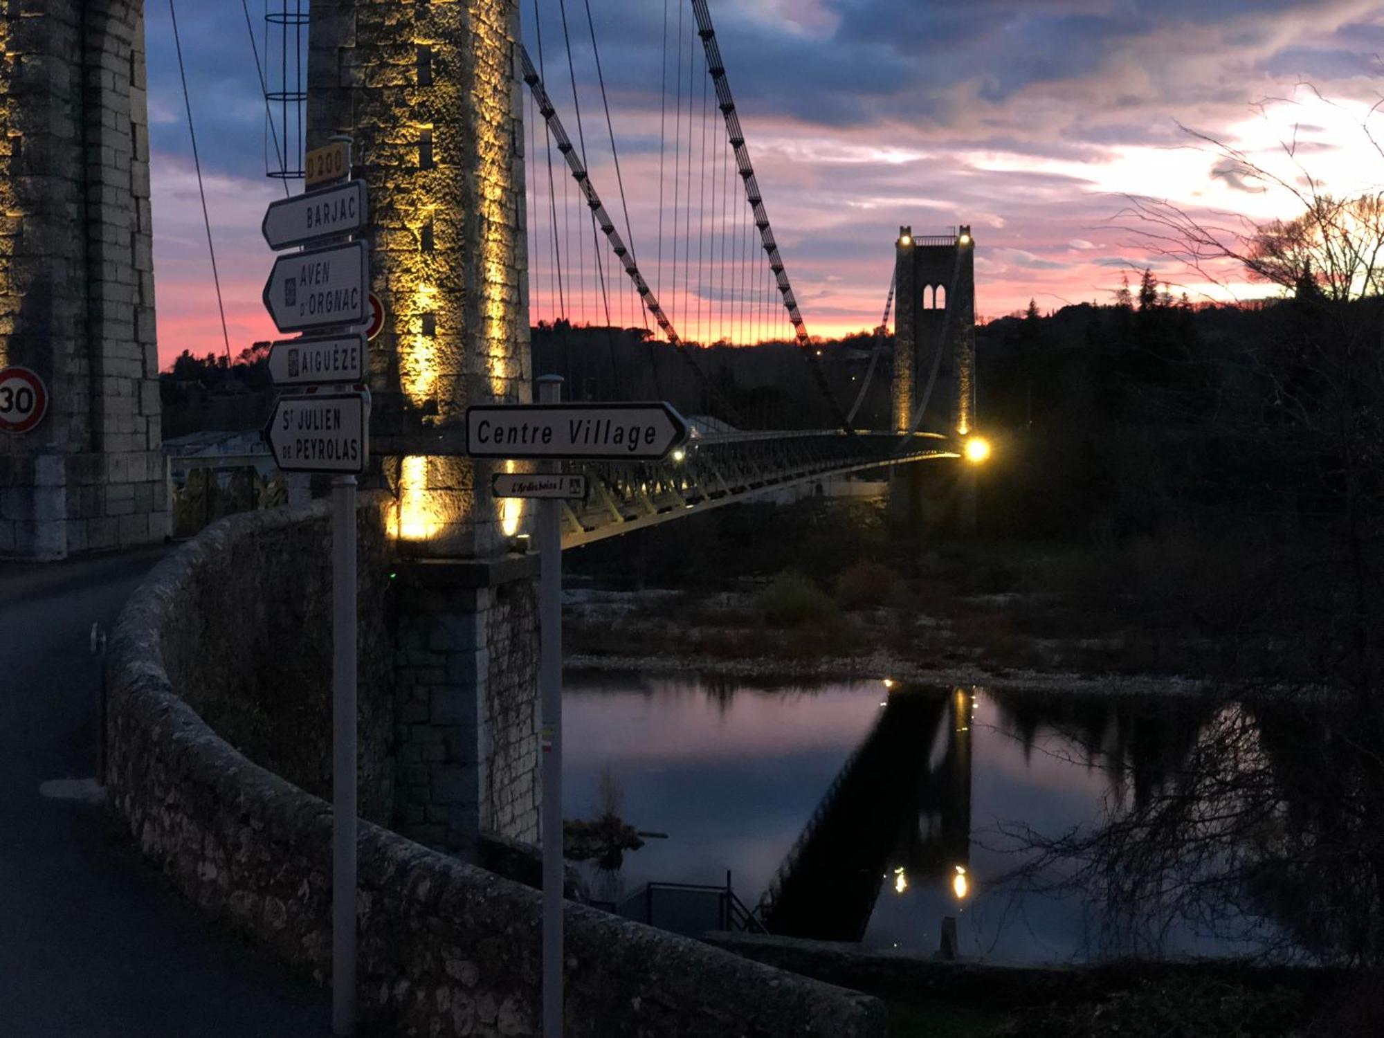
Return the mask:
M356 477L332 477L332 1034L356 1034Z

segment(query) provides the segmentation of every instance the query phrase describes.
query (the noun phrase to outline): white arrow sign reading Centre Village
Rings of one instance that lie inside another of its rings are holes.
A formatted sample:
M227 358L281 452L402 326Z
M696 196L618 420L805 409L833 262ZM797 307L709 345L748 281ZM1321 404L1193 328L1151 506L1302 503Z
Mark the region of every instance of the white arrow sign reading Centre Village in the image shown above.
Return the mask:
M473 458L656 461L688 436L671 404L486 404L466 410Z

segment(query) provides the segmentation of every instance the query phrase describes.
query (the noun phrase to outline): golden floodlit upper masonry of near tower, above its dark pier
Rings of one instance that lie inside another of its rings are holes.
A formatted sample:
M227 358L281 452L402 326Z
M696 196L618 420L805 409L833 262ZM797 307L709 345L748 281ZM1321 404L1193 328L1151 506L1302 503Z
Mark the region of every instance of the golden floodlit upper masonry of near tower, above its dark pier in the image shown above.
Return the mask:
M307 144L350 134L370 185L372 428L404 444L381 475L418 556L491 558L513 533L487 462L422 444L471 404L530 399L518 39L515 0L313 3Z

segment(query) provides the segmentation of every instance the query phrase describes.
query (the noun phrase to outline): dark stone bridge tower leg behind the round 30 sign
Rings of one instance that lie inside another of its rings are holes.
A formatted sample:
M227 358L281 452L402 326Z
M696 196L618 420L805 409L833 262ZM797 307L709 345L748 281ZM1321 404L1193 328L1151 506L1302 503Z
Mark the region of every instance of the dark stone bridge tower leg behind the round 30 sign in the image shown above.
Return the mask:
M0 368L47 385L0 432L0 556L165 537L143 0L0 14Z

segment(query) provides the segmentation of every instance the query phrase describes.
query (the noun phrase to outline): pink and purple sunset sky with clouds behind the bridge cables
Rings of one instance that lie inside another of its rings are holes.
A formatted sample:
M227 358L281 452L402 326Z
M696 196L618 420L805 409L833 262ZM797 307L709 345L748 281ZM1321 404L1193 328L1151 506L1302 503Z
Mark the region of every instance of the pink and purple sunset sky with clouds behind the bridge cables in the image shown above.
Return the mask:
M685 255L689 242L666 216L659 270L660 138L667 210L680 15L684 94L688 57L700 62L688 35L691 4L591 0L591 10L635 252L650 284L671 282L668 256L674 248ZM1124 195L1254 220L1294 210L1284 194L1254 190L1182 127L1233 144L1289 179L1298 172L1282 144L1295 140L1297 159L1329 190L1384 184L1384 158L1362 130L1384 90L1378 0L711 0L710 10L765 205L814 334L879 321L900 224L918 234L972 224L981 316L1021 309L1030 298L1045 310L1107 302L1122 271L1146 266L1194 299L1223 298L1138 245L1114 219ZM585 11L573 3L567 15L592 180L623 230ZM172 26L159 6L147 17L159 352L167 364L183 349L223 346ZM538 0L538 17L545 80L576 137L558 4ZM523 21L537 61L533 0L523 3ZM264 105L241 7L184 0L179 28L235 353L274 335L260 304L271 255L259 224L282 187L264 176ZM262 32L257 21L255 30ZM703 68L692 79L698 148ZM709 140L724 141L714 104L710 111ZM660 120L668 127L663 137ZM685 123L682 133L685 147ZM1376 137L1384 141L1384 131ZM530 158L545 163L541 127L536 141ZM555 177L558 158L554 151ZM530 213L548 206L545 177L545 165L530 165ZM558 197L561 221L562 187ZM548 223L538 217L533 228L534 320L556 309ZM696 206L692 224L695 262ZM576 251L574 238L569 245ZM590 230L583 245L590 256ZM569 313L594 318L592 303L583 310L580 302L595 299L594 275L569 274ZM1262 285L1230 291L1266 293ZM702 296L713 293L703 285ZM695 334L696 285L689 296L663 296L684 334ZM703 314L711 309L704 306Z

